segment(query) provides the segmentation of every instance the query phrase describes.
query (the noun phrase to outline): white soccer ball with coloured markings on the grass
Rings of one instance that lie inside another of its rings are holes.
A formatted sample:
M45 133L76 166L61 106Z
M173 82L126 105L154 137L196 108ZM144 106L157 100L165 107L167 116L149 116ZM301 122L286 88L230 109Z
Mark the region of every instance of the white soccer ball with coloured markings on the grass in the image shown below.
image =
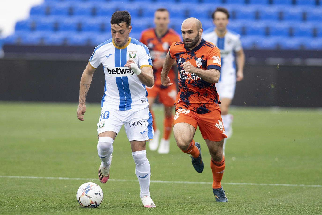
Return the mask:
M99 185L87 182L78 188L76 199L83 208L97 208L103 200L103 191Z

